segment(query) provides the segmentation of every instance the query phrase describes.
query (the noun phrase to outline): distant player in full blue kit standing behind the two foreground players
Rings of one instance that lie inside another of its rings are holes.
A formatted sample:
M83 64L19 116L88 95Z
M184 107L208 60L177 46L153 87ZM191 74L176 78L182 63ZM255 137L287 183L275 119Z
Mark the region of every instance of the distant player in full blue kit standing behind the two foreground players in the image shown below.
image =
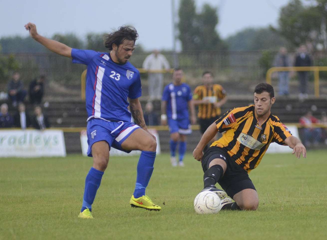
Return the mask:
M190 86L183 83L183 71L174 69L173 82L163 89L161 102L161 124L168 121L170 131L170 162L177 166L175 157L176 147L179 144L179 165L184 166L183 158L186 152L186 135L192 132L188 109L191 111L192 124L196 123L195 110L192 105L192 91Z

